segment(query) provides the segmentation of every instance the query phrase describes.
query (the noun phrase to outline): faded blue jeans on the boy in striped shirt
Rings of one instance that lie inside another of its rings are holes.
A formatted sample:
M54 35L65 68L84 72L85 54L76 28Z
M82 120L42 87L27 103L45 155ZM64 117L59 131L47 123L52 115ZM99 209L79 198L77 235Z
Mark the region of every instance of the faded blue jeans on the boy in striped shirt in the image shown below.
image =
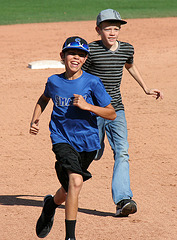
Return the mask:
M97 124L99 128L99 137L101 149L98 150L95 159L100 159L104 151L105 132L109 144L114 153L114 170L112 177L112 198L115 204L122 199L130 199L133 197L130 189L129 176L129 155L128 155L128 141L127 141L127 122L125 119L125 112L119 110L116 112L115 120L107 120L97 117Z

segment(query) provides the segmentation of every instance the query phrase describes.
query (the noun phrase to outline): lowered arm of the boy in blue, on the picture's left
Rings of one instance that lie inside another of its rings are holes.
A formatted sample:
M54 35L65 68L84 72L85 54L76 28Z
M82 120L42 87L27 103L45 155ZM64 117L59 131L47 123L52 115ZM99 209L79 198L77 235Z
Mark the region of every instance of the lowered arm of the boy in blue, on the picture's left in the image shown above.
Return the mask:
M36 103L34 112L33 112L33 117L31 119L30 123L30 130L29 132L31 134L36 135L39 132L39 117L41 113L44 111L45 107L47 106L50 98L47 98L44 94L42 94L39 98L39 100Z

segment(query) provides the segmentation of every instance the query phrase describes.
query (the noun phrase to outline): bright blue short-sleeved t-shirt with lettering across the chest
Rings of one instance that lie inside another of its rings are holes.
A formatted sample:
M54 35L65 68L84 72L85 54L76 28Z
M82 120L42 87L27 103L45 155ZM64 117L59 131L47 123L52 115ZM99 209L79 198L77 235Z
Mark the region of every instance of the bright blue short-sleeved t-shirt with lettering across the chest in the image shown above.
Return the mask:
M74 106L73 94L82 95L88 103L100 107L111 102L101 80L85 71L74 80L66 79L63 73L49 77L44 95L53 101L49 124L52 144L68 143L78 152L97 150L100 141L96 115Z

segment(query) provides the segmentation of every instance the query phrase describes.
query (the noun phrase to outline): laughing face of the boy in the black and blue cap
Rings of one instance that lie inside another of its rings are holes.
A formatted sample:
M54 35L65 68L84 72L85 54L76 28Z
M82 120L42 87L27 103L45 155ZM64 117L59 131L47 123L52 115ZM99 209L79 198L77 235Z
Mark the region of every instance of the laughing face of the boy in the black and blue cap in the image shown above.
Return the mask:
M87 59L87 53L80 49L68 49L60 53L61 59L65 64L66 70L78 72Z

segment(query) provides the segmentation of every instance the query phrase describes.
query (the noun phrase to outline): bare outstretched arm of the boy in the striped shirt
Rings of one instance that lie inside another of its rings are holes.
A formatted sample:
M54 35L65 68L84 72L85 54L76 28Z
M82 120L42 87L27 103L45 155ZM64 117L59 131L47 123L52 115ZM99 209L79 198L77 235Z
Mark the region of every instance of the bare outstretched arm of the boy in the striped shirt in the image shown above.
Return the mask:
M147 87L147 85L145 84L143 78L141 77L138 69L136 68L136 66L134 64L126 63L125 68L131 74L131 76L138 82L138 84L142 87L142 89L144 90L144 92L146 94L153 95L156 99L158 99L159 97L161 99L163 99L162 91L160 91L158 89L150 89Z

